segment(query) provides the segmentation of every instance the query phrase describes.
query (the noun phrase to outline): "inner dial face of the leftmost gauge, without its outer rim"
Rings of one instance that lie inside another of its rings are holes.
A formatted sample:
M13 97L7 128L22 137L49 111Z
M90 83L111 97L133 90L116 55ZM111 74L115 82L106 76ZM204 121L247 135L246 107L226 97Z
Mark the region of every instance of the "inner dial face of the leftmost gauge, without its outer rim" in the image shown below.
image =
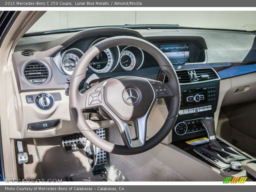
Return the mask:
M76 64L79 61L79 57L73 53L66 53L63 55L61 67L63 68L64 72L68 75L72 75Z

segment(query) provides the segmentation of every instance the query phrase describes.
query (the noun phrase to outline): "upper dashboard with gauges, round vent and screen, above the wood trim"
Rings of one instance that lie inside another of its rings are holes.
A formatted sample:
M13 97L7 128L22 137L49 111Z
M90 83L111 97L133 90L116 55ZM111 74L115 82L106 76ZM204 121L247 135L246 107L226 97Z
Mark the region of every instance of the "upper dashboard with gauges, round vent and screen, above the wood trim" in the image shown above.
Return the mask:
M112 36L135 36L149 41L164 52L175 69L218 68L225 62L256 60L255 34L248 32L92 28L69 34L29 36L20 39L12 56L19 92L63 89L84 52ZM159 71L157 61L149 53L136 47L118 46L104 50L91 61L84 81L90 83L115 76L156 79ZM44 74L41 81L40 76Z

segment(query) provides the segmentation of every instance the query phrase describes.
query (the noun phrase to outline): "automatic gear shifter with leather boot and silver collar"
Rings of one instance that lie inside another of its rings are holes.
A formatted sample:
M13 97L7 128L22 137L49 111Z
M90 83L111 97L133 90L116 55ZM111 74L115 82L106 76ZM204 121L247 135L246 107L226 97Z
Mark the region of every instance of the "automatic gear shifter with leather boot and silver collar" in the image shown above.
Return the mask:
M201 123L204 126L209 137L209 144L203 145L201 147L206 153L226 164L229 164L232 161L241 161L246 159L235 149L224 144L220 144L217 141L214 119L212 117L204 117L201 120Z

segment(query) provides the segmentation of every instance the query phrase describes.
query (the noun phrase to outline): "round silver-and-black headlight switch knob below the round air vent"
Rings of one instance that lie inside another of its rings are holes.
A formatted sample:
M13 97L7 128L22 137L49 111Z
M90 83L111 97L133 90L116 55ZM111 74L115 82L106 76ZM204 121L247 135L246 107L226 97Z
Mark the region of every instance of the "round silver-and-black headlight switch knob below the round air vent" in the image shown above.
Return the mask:
M39 109L49 110L54 105L54 99L51 94L42 92L36 95L35 104Z

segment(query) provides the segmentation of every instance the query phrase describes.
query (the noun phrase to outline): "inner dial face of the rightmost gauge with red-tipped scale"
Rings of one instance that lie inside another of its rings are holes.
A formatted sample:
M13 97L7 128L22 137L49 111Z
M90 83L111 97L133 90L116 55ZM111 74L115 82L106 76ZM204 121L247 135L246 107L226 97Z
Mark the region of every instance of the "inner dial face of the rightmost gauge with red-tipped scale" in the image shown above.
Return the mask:
M131 51L124 50L120 55L121 67L126 71L131 71L136 65L136 59Z

